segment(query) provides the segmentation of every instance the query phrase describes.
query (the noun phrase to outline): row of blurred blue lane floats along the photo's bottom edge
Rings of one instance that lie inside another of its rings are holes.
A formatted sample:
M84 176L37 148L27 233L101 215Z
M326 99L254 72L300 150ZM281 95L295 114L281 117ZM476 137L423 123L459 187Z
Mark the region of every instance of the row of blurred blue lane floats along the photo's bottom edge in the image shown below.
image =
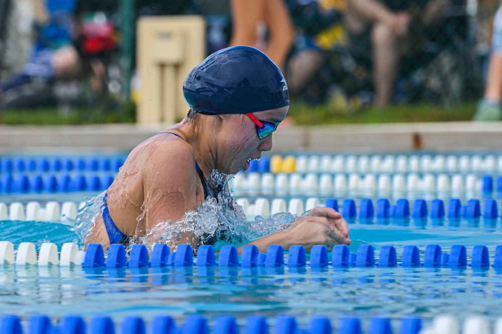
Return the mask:
M369 319L367 333L371 334L389 334L392 333L392 327L389 318L373 317ZM99 315L90 319L89 332L94 334L145 334L145 321L139 316L126 316L120 325L120 330L115 330L119 326L114 324L107 315ZM210 331L208 320L200 315L189 315L185 318L183 324L176 326L175 321L166 315L155 316L149 325L150 333L183 333L183 334L208 334ZM422 321L418 317L403 317L400 319L400 334L418 334L422 328ZM30 318L28 323L28 334L84 334L86 324L82 317L78 315L66 315L61 318L59 326L53 326L50 319L45 315L35 315ZM0 317L0 331L2 334L22 334L23 328L21 319L16 315L3 315ZM212 333L237 334L239 327L235 317L229 315L219 315L215 318ZM265 317L251 314L247 316L243 324L243 333L245 334L264 334L271 332ZM329 318L314 315L307 328L298 326L296 319L287 314L279 315L275 318L274 333L276 334L298 334L298 333L316 333L330 334L333 332L333 326ZM343 317L339 321L337 333L341 334L362 334L361 321L357 317Z

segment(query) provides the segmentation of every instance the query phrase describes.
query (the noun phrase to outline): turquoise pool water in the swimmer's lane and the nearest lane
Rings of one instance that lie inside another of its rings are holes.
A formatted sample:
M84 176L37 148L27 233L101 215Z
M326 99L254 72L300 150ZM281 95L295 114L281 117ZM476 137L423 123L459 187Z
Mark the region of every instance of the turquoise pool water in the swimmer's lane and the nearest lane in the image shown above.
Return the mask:
M76 240L67 227L48 223L2 222L2 240L64 242ZM480 227L484 224L481 221ZM499 225L499 224L498 224ZM430 226L430 225L429 225ZM30 228L28 228L30 227ZM500 228L491 232L469 227L430 226L417 229L391 223L389 226L351 225L352 245L356 252L363 243L375 247L396 247L398 256L406 245L423 251L438 244L445 252L451 245L486 245L493 259L495 246L502 244ZM470 259L468 259L468 262ZM219 269L187 267L143 269L94 269L79 267L0 268L0 313L31 315L44 313L58 318L69 313L90 318L107 314L120 321L126 315L145 320L168 314L182 321L187 314L200 313L212 319L222 313L239 321L252 313L272 319L277 314L294 315L307 325L314 314L328 316L336 324L345 315L369 319L389 316L396 323L406 315L422 317L426 322L439 313L482 314L491 321L500 316L502 273L466 269L420 268L348 268L293 270L287 267Z

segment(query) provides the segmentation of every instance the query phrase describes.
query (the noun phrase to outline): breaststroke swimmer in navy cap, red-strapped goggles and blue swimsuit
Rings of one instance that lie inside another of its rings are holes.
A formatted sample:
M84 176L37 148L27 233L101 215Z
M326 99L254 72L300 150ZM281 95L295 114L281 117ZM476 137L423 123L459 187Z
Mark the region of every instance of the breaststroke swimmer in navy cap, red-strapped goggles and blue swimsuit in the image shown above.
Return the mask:
M249 46L217 51L194 67L183 83L190 109L185 119L145 140L131 151L108 188L102 211L85 243L127 244L161 221L176 222L228 187L213 187L214 170L235 174L272 148L272 133L289 107L280 69ZM174 223L173 223L174 224ZM193 233L179 243L195 249ZM303 245L350 245L347 222L332 208L316 207L278 232L248 244L266 252L269 245L288 250ZM242 247L242 246L241 246ZM241 247L238 248L240 253Z

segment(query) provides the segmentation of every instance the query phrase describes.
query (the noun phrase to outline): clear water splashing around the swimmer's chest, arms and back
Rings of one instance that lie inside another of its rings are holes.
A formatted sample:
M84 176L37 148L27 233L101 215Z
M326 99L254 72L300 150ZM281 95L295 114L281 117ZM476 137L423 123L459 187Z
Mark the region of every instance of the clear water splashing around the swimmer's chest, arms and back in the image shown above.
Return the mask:
M256 216L254 221L247 221L243 208L232 198L228 181L233 175L213 170L208 183L213 189L220 189L217 197L208 198L197 210L187 211L176 221L161 220L151 230L137 231L132 237L127 250L136 244L144 244L150 250L153 245L164 243L174 251L178 244L192 245L211 244L216 250L223 245L241 245L265 235L285 229L296 215L277 213L270 219ZM105 192L91 198L79 211L75 220L74 232L80 237L81 245L91 232L92 224L102 212ZM140 221L146 211L136 219Z

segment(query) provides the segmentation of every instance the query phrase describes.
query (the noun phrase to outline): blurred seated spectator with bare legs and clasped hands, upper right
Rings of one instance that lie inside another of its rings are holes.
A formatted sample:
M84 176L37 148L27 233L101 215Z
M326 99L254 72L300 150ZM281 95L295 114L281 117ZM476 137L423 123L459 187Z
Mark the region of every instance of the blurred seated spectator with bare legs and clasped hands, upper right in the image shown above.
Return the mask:
M408 71L429 60L424 35L428 28L442 24L448 5L449 0L348 2L348 35L351 44L362 50L355 58L372 69L377 107L390 102L401 63Z

